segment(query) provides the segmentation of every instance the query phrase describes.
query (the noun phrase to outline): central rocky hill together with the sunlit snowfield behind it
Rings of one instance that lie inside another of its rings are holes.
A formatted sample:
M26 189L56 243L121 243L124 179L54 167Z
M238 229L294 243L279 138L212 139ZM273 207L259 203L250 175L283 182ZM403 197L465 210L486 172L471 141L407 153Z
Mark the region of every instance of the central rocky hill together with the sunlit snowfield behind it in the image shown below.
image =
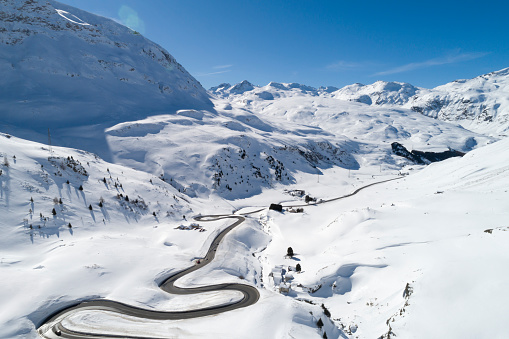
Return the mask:
M393 154L392 142L466 152L492 140L408 109L319 96L245 97L216 99L214 113L182 110L113 126L106 132L113 159L192 197L234 200L295 183L300 172L401 169L408 162Z

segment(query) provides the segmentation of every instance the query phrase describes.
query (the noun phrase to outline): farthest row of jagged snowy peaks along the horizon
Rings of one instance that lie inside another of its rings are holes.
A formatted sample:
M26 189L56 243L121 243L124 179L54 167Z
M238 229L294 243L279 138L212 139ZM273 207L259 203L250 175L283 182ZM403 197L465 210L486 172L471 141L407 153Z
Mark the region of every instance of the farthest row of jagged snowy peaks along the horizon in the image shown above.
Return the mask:
M443 121L458 122L476 132L505 135L509 130L509 68L456 80L433 89L408 83L377 81L341 89L314 88L296 83L271 82L255 86L248 81L221 84L209 92L219 98L257 101L299 96L323 96L370 106L401 106Z

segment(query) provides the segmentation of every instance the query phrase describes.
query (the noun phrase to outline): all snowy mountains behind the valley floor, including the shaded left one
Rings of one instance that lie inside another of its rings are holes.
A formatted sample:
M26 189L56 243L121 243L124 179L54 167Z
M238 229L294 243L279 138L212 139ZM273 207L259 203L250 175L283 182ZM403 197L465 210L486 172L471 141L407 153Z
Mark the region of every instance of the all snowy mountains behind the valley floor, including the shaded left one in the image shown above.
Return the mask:
M392 142L467 152L493 140L418 113L492 134L509 125L508 70L433 90L243 81L207 92L166 50L110 19L52 0L0 6L2 132L94 152L191 196L246 197L334 166L397 169Z

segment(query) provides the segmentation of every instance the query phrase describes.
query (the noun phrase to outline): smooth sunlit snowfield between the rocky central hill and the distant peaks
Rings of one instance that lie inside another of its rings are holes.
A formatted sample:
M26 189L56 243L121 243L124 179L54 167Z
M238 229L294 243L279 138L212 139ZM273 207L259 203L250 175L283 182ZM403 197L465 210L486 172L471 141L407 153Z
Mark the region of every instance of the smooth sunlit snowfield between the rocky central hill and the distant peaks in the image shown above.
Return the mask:
M215 103L218 108L249 110L268 121L278 118L319 127L333 135L381 148L388 146L384 143L398 141L411 149L446 150L451 147L468 151L490 139L399 106L370 107L324 95L288 95L265 100L244 94L218 99Z

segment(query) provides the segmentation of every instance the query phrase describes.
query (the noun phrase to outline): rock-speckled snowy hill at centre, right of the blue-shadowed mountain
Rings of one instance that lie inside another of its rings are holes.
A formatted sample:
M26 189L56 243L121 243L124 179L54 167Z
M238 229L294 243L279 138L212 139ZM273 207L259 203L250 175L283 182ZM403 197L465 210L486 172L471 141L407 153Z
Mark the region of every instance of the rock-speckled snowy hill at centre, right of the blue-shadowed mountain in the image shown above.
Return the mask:
M195 196L233 200L295 182L298 172L357 169L356 142L246 110L182 110L107 130L116 163L164 178Z

